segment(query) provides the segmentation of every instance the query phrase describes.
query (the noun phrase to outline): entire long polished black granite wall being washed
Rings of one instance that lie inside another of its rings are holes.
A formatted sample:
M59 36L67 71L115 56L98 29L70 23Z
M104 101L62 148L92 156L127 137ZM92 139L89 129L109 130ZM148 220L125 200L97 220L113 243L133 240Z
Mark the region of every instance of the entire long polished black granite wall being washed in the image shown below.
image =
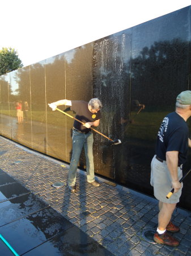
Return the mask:
M153 195L150 163L160 123L175 110L177 95L190 90L190 12L185 7L1 76L0 134L70 163L73 119L48 103L98 97L103 109L96 129L122 143L111 146L94 134L96 174ZM19 101L23 123L16 118ZM184 172L190 159L189 152ZM79 166L86 169L83 152ZM190 180L181 199L186 209Z

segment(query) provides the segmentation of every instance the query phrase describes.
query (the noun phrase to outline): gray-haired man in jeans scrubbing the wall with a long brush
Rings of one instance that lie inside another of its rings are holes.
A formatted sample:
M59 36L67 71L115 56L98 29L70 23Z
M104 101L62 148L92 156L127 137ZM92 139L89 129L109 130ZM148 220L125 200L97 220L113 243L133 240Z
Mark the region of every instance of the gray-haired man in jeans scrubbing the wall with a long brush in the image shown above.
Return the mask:
M61 105L70 106L70 109L76 112L75 118L84 123L84 125L82 125L80 122L74 121L73 155L70 162L69 178L67 181L69 189L71 192L75 192L78 162L83 147L86 155L87 182L95 187L99 187L100 184L95 181L94 175L94 137L90 127L99 126L101 118L100 108L102 107L102 104L98 98L92 98L89 102L60 100L53 102L49 106L54 111L57 106Z

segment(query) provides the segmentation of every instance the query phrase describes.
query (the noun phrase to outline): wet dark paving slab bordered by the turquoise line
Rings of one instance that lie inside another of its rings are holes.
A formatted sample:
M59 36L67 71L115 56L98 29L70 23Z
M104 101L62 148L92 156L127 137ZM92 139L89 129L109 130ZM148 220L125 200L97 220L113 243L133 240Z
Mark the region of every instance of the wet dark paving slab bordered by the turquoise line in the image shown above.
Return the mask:
M49 207L2 226L0 234L20 255L73 226Z

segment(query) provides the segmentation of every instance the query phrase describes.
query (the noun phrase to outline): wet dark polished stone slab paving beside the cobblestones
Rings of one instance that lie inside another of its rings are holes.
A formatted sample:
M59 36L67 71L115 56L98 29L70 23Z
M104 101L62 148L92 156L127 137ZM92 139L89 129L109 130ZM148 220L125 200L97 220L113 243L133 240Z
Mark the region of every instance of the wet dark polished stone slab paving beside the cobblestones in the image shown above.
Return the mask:
M2 170L0 180L1 255L112 255Z

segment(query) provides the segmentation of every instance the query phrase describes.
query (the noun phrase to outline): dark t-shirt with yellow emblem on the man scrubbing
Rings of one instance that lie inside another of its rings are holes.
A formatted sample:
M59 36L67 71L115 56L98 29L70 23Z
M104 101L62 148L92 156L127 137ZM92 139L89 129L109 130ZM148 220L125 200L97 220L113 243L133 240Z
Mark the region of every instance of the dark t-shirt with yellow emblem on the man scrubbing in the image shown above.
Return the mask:
M86 101L71 101L70 109L76 113L75 118L77 118L79 121L82 121L83 123L94 122L95 120L101 118L100 110L97 113L91 113L88 109L88 102ZM91 130L76 120L74 121L74 128L84 132Z

